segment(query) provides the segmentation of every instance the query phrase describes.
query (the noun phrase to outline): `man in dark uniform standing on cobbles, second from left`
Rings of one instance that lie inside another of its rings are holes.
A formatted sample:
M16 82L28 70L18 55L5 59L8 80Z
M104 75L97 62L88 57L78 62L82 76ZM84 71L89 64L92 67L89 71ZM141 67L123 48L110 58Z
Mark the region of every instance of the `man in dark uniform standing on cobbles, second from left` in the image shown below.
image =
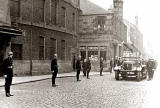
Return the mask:
M51 71L52 71L52 87L56 87L55 80L58 73L57 54L54 54L54 59L51 62Z

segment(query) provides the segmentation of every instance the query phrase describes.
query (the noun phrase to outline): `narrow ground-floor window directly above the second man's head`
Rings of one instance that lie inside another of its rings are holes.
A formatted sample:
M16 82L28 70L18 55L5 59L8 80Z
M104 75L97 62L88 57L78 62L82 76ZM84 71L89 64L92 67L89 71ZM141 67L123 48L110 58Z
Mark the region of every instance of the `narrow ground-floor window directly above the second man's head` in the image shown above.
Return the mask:
M57 40L51 38L50 42L50 59L53 59L54 54L57 53Z

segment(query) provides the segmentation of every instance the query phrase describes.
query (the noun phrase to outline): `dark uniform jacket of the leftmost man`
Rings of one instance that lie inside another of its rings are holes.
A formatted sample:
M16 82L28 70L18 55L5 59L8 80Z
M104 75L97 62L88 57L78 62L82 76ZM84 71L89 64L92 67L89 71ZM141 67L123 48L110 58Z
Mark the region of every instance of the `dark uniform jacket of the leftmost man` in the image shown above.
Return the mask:
M3 61L3 73L4 75L7 75L7 77L13 77L13 59L12 58L6 58Z

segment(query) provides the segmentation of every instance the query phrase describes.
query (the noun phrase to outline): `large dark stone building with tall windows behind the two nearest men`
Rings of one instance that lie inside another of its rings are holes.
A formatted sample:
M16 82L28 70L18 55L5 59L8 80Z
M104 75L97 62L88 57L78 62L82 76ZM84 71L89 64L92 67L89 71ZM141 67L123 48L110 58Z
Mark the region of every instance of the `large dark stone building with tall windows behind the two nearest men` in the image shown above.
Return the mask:
M11 25L24 31L11 40L15 74L49 73L54 53L59 72L72 71L79 12L79 0L10 0Z

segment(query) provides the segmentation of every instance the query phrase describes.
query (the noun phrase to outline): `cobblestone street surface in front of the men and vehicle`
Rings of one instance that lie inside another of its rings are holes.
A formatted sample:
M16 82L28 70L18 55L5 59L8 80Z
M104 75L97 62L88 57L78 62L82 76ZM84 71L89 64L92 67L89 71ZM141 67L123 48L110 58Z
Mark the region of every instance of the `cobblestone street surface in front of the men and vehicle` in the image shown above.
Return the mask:
M116 81L114 74L57 78L12 85L13 97L5 97L0 87L1 108L146 108L150 82Z

